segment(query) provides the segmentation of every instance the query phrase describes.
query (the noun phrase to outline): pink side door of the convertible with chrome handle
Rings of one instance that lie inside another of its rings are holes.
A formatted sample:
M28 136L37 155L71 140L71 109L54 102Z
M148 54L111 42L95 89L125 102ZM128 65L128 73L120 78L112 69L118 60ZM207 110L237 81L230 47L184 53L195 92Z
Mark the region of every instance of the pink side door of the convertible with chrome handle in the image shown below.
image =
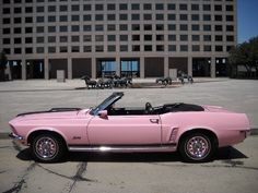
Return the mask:
M159 114L95 116L89 126L91 145L160 145Z

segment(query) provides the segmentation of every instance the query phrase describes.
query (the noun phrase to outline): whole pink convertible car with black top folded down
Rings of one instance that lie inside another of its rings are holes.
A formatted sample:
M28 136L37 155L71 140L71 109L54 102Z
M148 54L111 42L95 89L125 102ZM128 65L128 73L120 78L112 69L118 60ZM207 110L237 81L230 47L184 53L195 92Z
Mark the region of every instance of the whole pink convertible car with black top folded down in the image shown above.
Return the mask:
M249 129L244 113L213 106L167 104L115 108L114 93L92 109L55 108L19 114L11 137L32 147L35 159L60 160L70 152L175 152L187 161L208 161L218 147L243 142Z

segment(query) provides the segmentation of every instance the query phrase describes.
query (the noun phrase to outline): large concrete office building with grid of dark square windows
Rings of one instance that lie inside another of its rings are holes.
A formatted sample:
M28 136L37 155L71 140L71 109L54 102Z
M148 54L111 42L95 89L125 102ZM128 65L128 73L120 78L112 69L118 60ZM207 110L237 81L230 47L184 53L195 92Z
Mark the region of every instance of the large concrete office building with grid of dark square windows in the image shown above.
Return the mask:
M236 0L1 0L13 79L226 76Z

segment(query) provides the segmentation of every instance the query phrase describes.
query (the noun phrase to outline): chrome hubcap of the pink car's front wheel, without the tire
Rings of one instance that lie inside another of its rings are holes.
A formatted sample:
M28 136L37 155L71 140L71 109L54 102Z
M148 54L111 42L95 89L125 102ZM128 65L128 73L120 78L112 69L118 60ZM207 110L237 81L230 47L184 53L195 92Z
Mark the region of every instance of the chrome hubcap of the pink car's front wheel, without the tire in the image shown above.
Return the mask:
M50 137L42 137L36 142L36 153L39 157L44 159L52 158L57 150L58 146L56 141Z

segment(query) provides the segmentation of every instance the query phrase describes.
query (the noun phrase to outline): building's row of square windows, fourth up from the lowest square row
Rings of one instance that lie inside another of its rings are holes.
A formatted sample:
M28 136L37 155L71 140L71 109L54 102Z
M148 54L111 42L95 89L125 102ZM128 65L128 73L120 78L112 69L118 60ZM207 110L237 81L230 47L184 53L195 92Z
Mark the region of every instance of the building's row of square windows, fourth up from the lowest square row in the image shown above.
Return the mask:
M166 19L164 17L164 14L155 14L155 20L157 21L164 21L164 20L168 20L168 21L227 21L227 22L233 22L234 21L234 15L213 15L211 16L210 14L203 14L203 15L199 15L199 14L167 14L165 15L167 16ZM104 15L103 14L96 14L94 15L94 21L104 21ZM107 20L108 21L116 21L116 14L108 14L107 15ZM127 21L128 20L128 15L127 14L119 14L119 20L120 21ZM132 21L139 21L141 20L141 15L140 14L131 14L131 20ZM143 14L143 20L144 21L151 21L153 20L153 15L152 14ZM32 17L32 16L25 16L24 17L24 23L33 23L33 22L37 22L37 23L44 23L44 22L57 22L57 17L56 16L36 16L36 17ZM70 20L68 20L67 15L61 15L59 16L59 22L80 22L81 21L81 16L80 15L71 15ZM91 14L86 14L83 15L83 21L85 22L91 22L93 21L92 15ZM2 19L2 23L3 24L10 24L11 23L11 19L10 17L4 17ZM14 24L20 24L22 23L22 17L14 17L13 19L13 23Z

